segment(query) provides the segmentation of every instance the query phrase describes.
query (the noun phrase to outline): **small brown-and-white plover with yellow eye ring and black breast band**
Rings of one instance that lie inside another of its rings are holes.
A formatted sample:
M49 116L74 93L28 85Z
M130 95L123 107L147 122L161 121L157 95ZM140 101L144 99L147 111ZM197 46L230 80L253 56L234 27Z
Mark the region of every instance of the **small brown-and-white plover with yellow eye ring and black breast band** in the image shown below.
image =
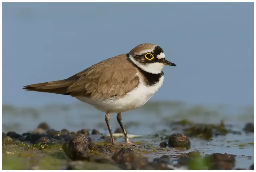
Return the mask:
M161 47L144 43L129 53L98 62L63 80L26 85L28 91L69 95L105 113L111 143L117 144L110 126L110 114L117 113L125 144L132 142L121 113L143 106L162 86L164 66L176 66L165 59Z

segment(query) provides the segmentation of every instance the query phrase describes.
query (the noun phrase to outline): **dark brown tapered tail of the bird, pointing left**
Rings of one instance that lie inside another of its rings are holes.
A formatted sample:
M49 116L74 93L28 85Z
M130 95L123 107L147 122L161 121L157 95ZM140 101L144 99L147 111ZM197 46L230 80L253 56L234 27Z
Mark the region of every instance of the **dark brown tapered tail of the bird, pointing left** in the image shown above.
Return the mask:
M45 92L45 93L70 95L70 93L67 92L67 89L73 83L74 81L72 80L59 80L59 81L26 85L23 87L23 89L28 91L38 91L38 92Z

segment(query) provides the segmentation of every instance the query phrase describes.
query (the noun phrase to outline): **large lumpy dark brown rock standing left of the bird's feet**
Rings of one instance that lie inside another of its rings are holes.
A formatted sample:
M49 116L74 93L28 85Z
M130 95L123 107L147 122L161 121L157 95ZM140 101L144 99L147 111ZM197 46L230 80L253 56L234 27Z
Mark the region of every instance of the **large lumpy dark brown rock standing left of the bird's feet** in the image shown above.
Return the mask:
M71 160L84 160L90 155L90 150L87 145L88 139L84 134L77 134L63 145L63 151Z

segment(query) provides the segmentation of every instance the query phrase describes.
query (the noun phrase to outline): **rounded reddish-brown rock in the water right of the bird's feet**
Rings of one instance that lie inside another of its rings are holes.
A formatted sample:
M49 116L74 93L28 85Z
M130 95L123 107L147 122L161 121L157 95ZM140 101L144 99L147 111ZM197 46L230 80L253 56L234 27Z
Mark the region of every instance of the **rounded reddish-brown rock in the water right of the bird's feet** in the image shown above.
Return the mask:
M183 134L176 133L176 134L170 135L169 141L168 141L168 146L169 147L186 147L186 148L190 148L190 141Z

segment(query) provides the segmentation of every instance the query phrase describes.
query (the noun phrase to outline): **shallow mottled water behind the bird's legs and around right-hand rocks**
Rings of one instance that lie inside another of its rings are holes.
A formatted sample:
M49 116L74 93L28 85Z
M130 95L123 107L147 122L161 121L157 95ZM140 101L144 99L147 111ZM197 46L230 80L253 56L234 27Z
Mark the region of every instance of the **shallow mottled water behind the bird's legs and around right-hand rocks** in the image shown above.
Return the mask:
M225 152L234 154L237 156L236 167L240 168L249 168L253 163L253 133L246 134L242 131L247 122L253 121L253 106L205 106L181 102L150 102L137 110L122 113L122 121L128 133L143 135L130 140L143 142L143 146L151 145L156 148L159 148L162 140L153 135L163 130L166 130L162 132L163 136L182 133L182 127L172 129L171 122L183 119L195 123L214 124L219 124L223 120L225 126L230 126L232 130L240 131L242 134L229 133L226 136L213 137L212 141L189 138L191 141L189 150L166 148L147 153L145 156L152 160L162 155L173 156L197 150L202 155ZM85 128L98 129L100 133L108 134L104 113L80 102L72 105L47 105L36 108L3 105L3 132L16 131L21 134L34 130L40 122L44 121L56 130L66 128L69 131L77 131ZM111 127L113 130L119 128L116 114L111 114ZM98 136L92 136L92 138L99 140ZM123 137L118 138L117 142L124 142ZM143 146L141 149L146 149Z

